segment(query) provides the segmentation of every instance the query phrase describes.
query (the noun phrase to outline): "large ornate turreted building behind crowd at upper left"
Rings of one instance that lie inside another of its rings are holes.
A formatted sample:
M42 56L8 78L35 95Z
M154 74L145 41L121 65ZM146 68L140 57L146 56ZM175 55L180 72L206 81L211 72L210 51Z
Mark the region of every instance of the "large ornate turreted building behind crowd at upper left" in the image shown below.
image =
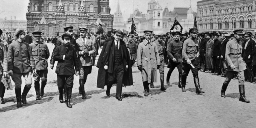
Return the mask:
M43 35L64 34L64 27L73 26L74 33L85 26L97 31L96 21L105 32L113 28L109 0L29 0L26 13L27 31L42 31Z

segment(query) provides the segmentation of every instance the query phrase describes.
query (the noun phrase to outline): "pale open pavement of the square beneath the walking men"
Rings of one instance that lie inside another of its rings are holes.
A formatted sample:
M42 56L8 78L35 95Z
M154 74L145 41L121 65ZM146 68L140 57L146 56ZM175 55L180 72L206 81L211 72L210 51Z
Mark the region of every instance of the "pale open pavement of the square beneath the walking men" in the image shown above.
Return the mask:
M48 44L50 51L53 46ZM56 64L55 64L56 66ZM75 76L71 104L67 108L58 100L55 68L49 68L48 84L41 100L35 100L35 89L29 91L28 103L16 108L14 90L7 90L6 104L0 104L1 128L256 128L256 84L245 84L246 98L239 102L238 81L232 80L226 98L220 96L223 77L199 73L201 88L196 95L192 73L187 78L186 93L178 88L178 72L174 70L167 90L160 91L160 75L151 95L144 96L142 78L133 67L134 85L123 87L122 101L115 98L116 87L106 96L96 88L98 68L93 67L85 84L87 99L79 95L79 77ZM165 76L168 68L165 68ZM166 81L165 81L166 84ZM22 88L24 84L22 85Z

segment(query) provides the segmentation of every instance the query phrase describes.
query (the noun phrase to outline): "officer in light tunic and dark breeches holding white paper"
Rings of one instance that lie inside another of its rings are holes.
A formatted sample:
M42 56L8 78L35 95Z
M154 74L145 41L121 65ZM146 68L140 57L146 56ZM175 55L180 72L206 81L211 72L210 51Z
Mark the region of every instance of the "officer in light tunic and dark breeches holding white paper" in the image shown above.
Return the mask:
M192 71L194 77L194 84L197 94L204 93L201 90L198 78L198 70L199 70L199 47L198 41L195 39L197 35L198 29L192 28L189 30L191 35L186 41L184 41L183 48L182 48L182 56L183 56L183 64L182 70L183 74L181 77L181 84L182 84L182 92L186 92L186 78L189 75L189 71ZM194 67L192 67L194 66Z

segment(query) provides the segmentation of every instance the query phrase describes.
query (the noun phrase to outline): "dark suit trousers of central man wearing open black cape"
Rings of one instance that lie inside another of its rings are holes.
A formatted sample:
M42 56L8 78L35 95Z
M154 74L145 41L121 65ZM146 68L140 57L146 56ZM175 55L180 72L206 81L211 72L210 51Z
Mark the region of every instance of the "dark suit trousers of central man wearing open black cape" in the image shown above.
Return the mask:
M110 89L116 83L116 97L122 94L122 80L125 68L123 64L114 64L113 73L108 73L108 88Z

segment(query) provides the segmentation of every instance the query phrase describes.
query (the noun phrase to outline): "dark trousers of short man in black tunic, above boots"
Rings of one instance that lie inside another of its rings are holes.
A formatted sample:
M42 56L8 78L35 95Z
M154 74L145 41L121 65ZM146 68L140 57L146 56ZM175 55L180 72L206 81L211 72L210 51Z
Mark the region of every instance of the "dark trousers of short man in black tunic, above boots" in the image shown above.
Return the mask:
M73 75L57 75L57 84L59 88L63 88L64 85L68 87L73 87L74 76Z

